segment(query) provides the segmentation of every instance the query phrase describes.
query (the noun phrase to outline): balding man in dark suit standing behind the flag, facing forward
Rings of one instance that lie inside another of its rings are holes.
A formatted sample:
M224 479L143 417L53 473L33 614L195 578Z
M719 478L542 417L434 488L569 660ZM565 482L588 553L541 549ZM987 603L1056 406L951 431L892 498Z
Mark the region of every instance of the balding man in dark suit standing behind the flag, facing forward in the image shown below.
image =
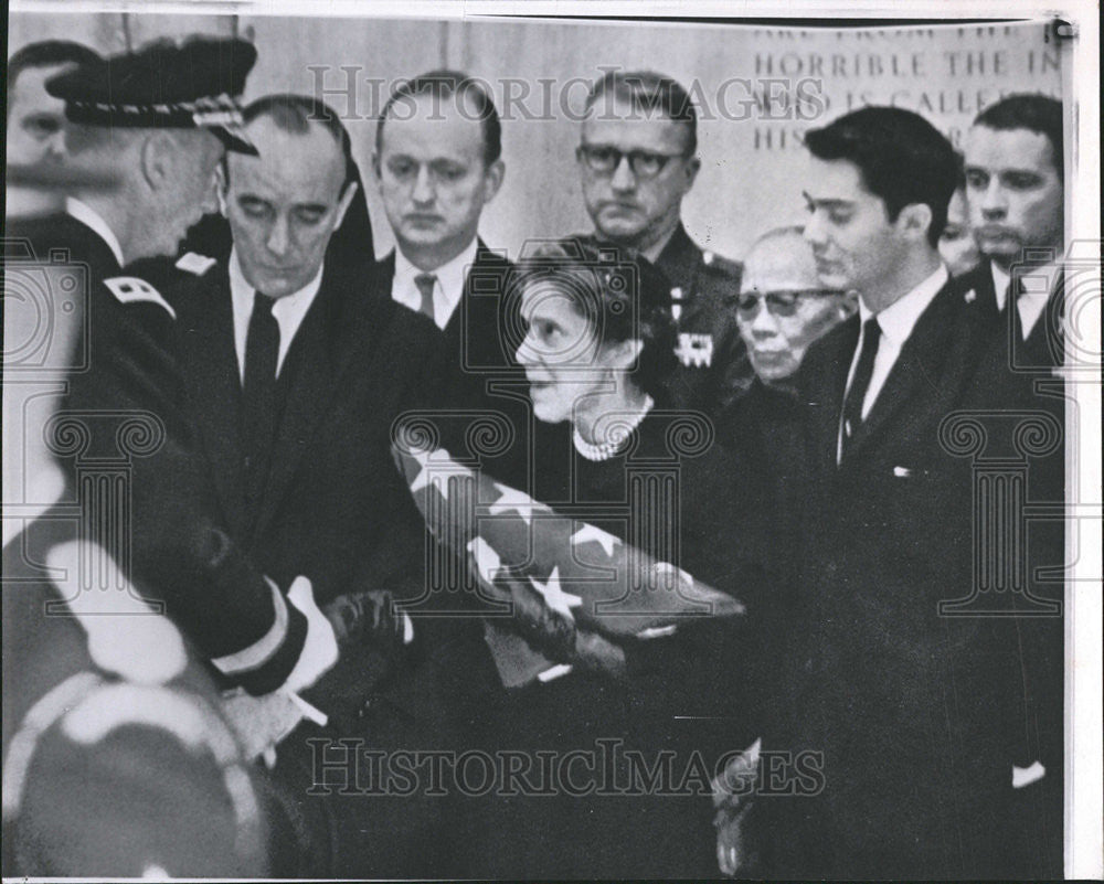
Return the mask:
M376 265L376 279L440 330L450 363L443 403L453 414L436 420L446 447L528 488L530 419L513 361L520 323L510 321L508 303L512 265L478 235L506 173L501 152L493 100L466 74L433 71L391 95L372 166L396 247ZM505 445L473 447L473 422L493 426Z

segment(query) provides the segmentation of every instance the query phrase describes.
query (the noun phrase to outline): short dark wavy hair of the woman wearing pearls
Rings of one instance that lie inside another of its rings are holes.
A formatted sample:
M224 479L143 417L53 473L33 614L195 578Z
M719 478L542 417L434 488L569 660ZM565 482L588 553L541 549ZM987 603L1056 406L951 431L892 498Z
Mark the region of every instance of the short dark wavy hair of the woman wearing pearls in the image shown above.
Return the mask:
M644 342L630 377L664 404L665 382L675 370L676 329L670 283L649 263L614 246L584 239L541 244L518 263L509 287L520 307L522 290L538 281L559 284L575 309L596 329L599 344Z

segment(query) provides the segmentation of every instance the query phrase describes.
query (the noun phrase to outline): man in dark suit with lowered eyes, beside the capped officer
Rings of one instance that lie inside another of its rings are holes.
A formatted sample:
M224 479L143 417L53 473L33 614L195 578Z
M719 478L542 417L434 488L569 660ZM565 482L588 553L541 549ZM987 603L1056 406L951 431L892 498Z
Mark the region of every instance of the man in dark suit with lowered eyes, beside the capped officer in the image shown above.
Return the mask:
M323 608L350 595L371 596L374 609L408 600L425 588L425 529L391 432L400 413L433 402L438 332L357 265L331 259L355 191L337 115L275 95L243 116L261 156L222 170L229 260L170 295L216 511L267 575L279 585L305 575ZM319 776L311 741L362 736L393 748L417 742L410 727L432 731L440 648L431 627L397 624L399 635L343 646L302 693L329 721L279 744L277 773L300 792ZM416 871L428 852L414 841L436 826L416 800L321 796L304 807L332 827L331 874Z

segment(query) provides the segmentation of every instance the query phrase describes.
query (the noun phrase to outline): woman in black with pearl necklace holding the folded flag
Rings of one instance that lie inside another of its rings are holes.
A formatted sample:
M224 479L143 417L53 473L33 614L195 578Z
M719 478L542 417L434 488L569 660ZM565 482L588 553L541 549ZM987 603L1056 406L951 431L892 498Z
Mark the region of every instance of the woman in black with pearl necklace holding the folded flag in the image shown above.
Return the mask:
M732 533L726 456L702 415L666 407L667 281L624 253L566 241L523 260L513 291L541 451L532 496L751 608L762 576ZM754 739L736 663L744 624L687 617L658 631L620 641L619 669L576 667L488 711L488 745L529 758L530 781L542 756L554 776L543 795L477 802L470 873L716 873L709 780L723 753Z

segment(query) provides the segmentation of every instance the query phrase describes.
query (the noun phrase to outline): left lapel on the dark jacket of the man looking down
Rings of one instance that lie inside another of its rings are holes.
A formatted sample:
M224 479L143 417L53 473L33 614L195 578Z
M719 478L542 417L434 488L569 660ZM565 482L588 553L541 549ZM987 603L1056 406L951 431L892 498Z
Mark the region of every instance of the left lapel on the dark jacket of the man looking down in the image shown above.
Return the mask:
M242 448L240 419L242 385L234 350L234 316L230 279L224 265L202 280L181 323L185 376L191 387L203 449L211 467L219 502L231 526L242 512Z

